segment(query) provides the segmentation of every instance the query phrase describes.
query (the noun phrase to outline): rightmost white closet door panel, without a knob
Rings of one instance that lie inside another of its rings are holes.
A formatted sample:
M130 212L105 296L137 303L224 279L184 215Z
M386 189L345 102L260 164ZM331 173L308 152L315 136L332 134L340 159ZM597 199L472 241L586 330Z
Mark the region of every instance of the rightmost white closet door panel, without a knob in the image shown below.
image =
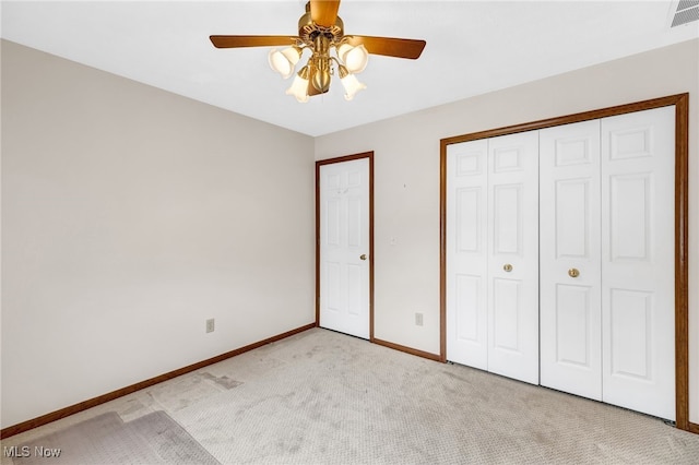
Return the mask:
M603 393L675 419L675 107L602 120Z

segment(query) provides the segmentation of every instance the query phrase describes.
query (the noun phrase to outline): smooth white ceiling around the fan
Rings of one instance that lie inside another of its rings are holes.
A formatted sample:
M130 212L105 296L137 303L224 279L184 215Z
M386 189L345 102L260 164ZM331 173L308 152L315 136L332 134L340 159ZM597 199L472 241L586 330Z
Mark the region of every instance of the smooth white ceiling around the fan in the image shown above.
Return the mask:
M296 35L306 0L2 1L3 38L309 135L699 37L671 29L671 1L343 0L346 34L422 38L418 60L371 56L367 90L298 104L269 48L216 49L212 34Z

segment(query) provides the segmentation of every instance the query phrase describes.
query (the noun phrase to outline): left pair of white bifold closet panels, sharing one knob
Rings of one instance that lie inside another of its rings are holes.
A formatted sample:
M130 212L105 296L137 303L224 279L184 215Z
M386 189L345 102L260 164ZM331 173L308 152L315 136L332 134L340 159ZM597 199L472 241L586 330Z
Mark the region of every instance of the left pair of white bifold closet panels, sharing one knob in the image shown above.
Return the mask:
M447 148L447 357L538 383L538 135Z

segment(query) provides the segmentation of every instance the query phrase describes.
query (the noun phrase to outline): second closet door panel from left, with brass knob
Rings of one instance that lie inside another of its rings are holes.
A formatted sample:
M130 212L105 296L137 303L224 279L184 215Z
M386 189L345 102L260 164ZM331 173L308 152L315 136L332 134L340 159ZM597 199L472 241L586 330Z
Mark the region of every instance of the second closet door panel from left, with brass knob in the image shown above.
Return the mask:
M488 371L538 384L538 132L488 141Z

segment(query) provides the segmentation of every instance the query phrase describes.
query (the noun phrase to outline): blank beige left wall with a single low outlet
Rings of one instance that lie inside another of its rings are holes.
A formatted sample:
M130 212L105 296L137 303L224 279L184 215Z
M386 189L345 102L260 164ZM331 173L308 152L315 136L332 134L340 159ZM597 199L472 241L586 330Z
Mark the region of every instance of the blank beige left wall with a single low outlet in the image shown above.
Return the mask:
M313 322L313 222L311 138L2 41L2 427Z

